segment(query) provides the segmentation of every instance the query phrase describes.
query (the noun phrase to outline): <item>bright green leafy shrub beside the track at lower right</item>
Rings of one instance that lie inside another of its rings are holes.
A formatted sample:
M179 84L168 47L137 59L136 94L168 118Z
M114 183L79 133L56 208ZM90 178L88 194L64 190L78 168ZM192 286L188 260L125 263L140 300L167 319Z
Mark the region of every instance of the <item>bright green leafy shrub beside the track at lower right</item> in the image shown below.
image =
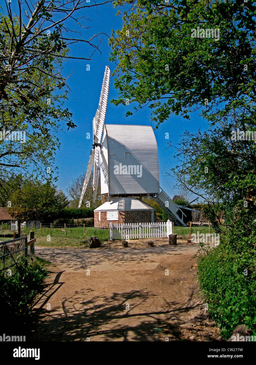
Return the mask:
M255 235L229 234L219 246L198 253L200 288L225 338L239 324L256 331L255 243Z

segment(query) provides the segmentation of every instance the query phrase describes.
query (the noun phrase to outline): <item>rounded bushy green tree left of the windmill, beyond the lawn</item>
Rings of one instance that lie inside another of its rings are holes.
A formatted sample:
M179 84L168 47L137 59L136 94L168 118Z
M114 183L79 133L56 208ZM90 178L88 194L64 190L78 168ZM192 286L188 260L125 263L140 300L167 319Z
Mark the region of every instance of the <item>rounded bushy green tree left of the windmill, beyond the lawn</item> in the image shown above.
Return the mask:
M23 220L49 222L68 205L65 194L49 181L43 184L23 180L19 189L9 196L9 200L11 207L8 207L7 211L18 223Z

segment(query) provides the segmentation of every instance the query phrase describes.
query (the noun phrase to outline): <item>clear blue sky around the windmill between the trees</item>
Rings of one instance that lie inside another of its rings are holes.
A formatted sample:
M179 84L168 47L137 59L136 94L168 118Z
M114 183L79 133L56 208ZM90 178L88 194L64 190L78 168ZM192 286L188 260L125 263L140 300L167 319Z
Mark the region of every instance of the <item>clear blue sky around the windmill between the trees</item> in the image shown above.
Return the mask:
M112 4L100 5L98 14L96 8L87 9L84 15L91 19L85 26L90 26L85 29L82 34L83 39L89 39L92 35L104 32L111 35L112 29L120 29L122 27L122 17L116 16L117 9ZM70 25L71 26L71 25ZM78 28L78 26L77 26ZM71 38L79 38L79 34L71 35ZM101 35L102 43L99 51L96 51L92 56L91 61L84 60L68 60L64 62L64 74L69 75L72 72L67 84L72 89L69 95L69 100L65 102L65 107L73 113L73 121L77 125L75 129L68 130L63 126L63 132L60 132L61 147L56 154L56 165L59 170L58 187L65 193L68 185L72 183L72 179L87 169L90 151L92 149L92 119L95 115L99 103L100 91L105 66L108 65L111 73L115 69L115 64L110 62L110 47L108 46L108 37ZM88 57L92 49L86 43L70 46L70 55L74 57ZM86 70L86 65L90 65L90 70ZM114 88L114 78L110 79L110 91L108 98L108 107L106 115L106 123L116 124L144 124L150 125L151 111L148 107L143 108L132 116L125 116L127 108L133 110L133 104L129 106L115 106L110 103L110 100L118 97L118 90ZM152 124L154 128L155 125ZM158 145L159 159L159 176L160 186L173 197L177 190L174 188L176 181L171 176L167 176L170 169L177 165L177 160L173 159L175 153L174 148L168 147L168 141L172 141L177 145L184 134L185 130L196 132L198 128L207 129L207 123L199 117L198 112L193 114L191 120L184 119L180 116L172 115L169 120L162 123L156 130L155 136ZM86 133L91 133L91 139L86 139ZM165 133L169 133L169 140L165 139ZM163 172L163 173L162 173ZM165 178L164 178L165 176ZM166 179L166 180L165 180Z

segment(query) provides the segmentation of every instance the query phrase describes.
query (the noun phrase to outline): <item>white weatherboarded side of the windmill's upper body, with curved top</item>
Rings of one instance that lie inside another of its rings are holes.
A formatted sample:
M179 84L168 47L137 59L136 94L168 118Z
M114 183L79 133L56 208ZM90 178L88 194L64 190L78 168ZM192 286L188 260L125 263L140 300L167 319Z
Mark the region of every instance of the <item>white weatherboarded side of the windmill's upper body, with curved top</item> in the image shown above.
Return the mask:
M159 193L158 150L153 128L106 124L103 141L104 138L107 140L108 193ZM114 174L114 166L120 164L138 166L137 173Z

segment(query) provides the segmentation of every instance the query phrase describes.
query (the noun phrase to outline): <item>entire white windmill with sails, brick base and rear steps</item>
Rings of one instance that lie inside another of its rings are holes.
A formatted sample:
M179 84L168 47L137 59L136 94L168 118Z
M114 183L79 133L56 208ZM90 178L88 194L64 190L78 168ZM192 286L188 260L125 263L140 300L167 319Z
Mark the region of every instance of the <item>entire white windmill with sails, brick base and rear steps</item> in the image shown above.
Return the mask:
M79 207L94 165L94 200L100 170L103 203L94 210L95 227L107 227L110 222L155 222L156 210L142 201L142 197L156 200L171 220L178 225L186 226L183 219L177 215L180 207L159 186L158 150L153 128L104 124L109 83L110 69L106 66L99 107L92 123L93 149ZM100 143L101 139L102 143Z

